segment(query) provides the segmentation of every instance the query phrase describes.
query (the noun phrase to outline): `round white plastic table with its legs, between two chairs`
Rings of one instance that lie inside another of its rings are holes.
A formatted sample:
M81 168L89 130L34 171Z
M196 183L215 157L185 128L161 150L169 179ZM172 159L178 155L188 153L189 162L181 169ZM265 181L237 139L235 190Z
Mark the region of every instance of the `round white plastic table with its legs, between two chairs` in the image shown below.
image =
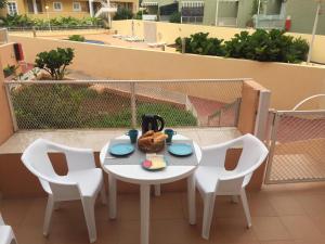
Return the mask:
M121 136L118 139L128 139ZM187 139L176 134L173 140ZM196 142L193 142L197 162L200 162L202 151ZM140 184L140 213L141 213L141 244L148 244L150 240L150 192L151 185L155 185L155 194L160 194L160 184L187 178L187 204L188 221L195 224L195 178L194 170L197 166L168 166L161 171L151 172L141 165L104 165L109 142L101 150L100 160L102 168L108 174L109 218L116 218L116 180ZM132 155L131 155L132 156ZM172 158L172 157L171 157Z

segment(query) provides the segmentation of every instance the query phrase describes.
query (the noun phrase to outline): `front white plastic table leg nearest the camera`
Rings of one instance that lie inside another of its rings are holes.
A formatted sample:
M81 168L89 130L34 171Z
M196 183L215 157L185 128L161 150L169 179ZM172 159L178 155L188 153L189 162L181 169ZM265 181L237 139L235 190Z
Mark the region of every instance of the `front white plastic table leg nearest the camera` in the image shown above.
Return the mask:
M151 201L151 185L140 185L140 211L141 211L141 244L148 244L150 239L150 201Z

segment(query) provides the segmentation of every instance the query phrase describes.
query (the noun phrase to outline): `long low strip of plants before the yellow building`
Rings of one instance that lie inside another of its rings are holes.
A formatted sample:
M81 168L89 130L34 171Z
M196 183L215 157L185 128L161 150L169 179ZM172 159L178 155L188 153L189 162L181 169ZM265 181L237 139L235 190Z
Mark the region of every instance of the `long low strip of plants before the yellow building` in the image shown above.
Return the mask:
M1 0L0 0L1 1ZM30 18L27 15L6 15L2 17L1 26L4 27L26 27L31 28L32 26L37 28L48 28L48 20ZM54 17L50 18L50 24L52 27L75 27L75 26L99 26L103 25L103 21L98 17L84 17L75 18L68 17Z

